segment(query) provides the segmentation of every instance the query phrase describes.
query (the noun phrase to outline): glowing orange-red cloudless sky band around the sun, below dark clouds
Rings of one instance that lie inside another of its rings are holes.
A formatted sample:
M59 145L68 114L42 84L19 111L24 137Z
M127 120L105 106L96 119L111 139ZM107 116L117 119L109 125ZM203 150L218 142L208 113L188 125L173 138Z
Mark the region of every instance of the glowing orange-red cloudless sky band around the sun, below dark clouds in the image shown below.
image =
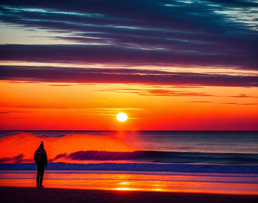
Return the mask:
M0 89L1 130L257 130L255 87L2 81ZM128 120L117 121L119 112Z

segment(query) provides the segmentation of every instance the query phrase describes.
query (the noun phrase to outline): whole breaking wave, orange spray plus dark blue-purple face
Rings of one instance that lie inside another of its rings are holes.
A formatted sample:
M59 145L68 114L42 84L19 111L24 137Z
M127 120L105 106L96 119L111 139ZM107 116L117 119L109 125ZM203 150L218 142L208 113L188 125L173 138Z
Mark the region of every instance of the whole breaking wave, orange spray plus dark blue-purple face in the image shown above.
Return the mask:
M45 143L48 161L52 164L109 162L258 165L257 153L140 151L108 136L69 134L39 137L26 132L0 138L0 163L33 163L34 152L41 141Z

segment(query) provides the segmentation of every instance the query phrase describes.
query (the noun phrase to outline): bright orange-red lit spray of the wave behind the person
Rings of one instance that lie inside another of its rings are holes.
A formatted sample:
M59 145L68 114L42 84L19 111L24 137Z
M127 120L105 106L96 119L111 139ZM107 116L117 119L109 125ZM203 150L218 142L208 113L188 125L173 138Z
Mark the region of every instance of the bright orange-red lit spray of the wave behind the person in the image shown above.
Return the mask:
M52 161L60 161L62 159L60 155L62 154L69 155L78 151L132 152L136 150L119 140L104 136L71 134L60 138L40 138L22 132L0 138L1 163L34 162L34 152L41 141L44 142L48 159ZM69 162L69 159L66 162Z

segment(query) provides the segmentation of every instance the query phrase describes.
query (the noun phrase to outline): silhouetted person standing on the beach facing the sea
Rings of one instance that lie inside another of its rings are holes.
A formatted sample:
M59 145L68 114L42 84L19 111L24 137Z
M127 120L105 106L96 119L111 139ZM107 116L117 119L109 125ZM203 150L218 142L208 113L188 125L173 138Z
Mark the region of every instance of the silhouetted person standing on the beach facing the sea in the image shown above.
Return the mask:
M47 159L47 153L44 149L43 141L41 141L39 148L34 153L34 160L36 165L38 166L37 187L44 187L42 186L42 181L43 181L45 166L46 168L48 166L48 159ZM40 179L39 179L39 176L40 176Z

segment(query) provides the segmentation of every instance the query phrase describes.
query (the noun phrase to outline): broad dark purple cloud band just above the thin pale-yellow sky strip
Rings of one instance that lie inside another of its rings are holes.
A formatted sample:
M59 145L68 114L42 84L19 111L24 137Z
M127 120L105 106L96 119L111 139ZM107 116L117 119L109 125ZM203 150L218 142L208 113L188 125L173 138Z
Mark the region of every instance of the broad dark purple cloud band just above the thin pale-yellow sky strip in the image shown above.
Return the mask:
M115 45L0 45L0 60L41 63L133 66L223 66L257 69L257 59L242 55L142 50Z

